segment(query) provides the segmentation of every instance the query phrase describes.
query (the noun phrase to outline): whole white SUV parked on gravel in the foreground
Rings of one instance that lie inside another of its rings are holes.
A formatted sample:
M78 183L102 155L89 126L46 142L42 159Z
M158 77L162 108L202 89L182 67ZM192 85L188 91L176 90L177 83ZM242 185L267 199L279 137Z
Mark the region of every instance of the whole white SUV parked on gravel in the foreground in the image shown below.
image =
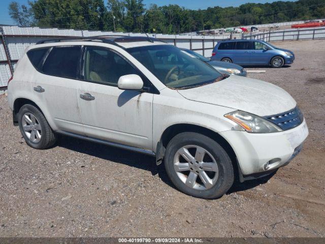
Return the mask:
M56 134L135 150L164 162L173 184L218 198L234 178L286 165L308 135L296 101L273 84L222 75L146 37L43 41L8 84L14 125L28 145Z

